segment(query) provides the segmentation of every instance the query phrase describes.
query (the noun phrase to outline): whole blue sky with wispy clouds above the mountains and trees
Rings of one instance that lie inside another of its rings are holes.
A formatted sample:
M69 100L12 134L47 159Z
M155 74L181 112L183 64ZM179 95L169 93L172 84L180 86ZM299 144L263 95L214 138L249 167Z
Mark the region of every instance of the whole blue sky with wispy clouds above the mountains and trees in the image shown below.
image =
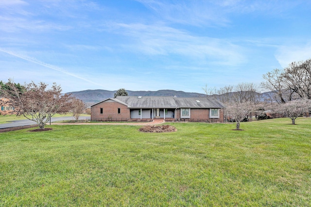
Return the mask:
M0 80L204 93L311 58L311 0L0 0Z

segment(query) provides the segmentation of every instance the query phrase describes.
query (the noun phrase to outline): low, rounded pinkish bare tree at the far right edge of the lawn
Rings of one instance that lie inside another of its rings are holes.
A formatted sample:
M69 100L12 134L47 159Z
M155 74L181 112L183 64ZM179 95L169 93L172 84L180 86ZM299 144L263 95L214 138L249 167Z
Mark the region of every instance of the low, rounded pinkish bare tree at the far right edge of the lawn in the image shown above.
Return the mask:
M289 101L285 104L278 105L275 111L284 114L284 116L292 120L292 124L295 124L297 117L302 116L304 113L309 112L311 109L311 100L298 99Z

